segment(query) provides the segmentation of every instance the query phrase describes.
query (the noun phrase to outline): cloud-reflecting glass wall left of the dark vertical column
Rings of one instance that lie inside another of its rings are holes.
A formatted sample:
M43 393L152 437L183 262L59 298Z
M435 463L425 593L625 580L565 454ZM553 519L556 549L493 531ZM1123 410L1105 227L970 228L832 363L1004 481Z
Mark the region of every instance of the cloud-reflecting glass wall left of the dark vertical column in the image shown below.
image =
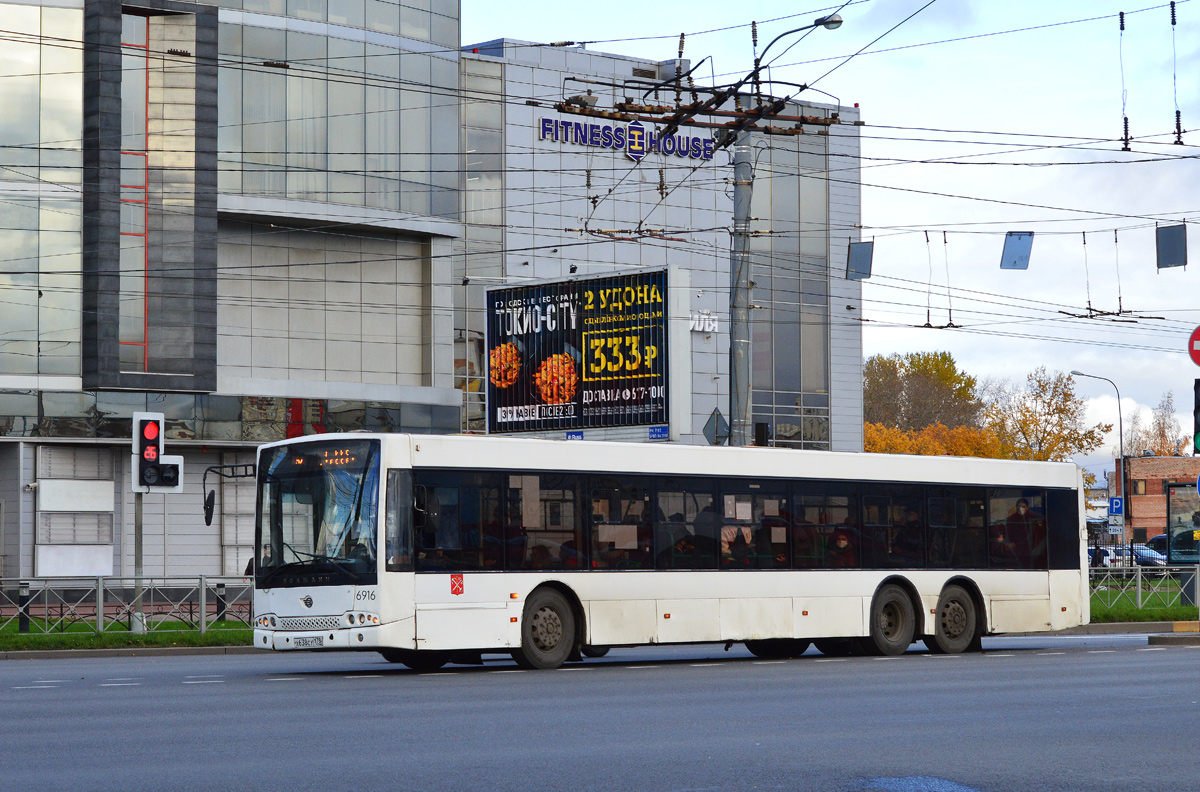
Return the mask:
M83 11L0 19L0 376L79 377Z

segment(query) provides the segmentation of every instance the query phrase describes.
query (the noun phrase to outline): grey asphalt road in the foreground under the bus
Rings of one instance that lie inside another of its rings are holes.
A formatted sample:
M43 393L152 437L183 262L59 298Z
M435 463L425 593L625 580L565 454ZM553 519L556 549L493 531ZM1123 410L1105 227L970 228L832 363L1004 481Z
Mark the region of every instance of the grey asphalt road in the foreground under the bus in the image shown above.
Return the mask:
M378 655L0 662L0 788L1193 790L1200 647L616 649L559 671Z

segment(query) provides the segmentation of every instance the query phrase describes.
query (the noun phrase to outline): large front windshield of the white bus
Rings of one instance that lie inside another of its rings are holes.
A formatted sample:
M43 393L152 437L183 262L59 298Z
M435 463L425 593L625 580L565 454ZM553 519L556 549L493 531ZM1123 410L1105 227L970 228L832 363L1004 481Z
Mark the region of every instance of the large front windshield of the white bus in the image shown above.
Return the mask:
M275 448L258 470L257 588L377 582L378 440Z

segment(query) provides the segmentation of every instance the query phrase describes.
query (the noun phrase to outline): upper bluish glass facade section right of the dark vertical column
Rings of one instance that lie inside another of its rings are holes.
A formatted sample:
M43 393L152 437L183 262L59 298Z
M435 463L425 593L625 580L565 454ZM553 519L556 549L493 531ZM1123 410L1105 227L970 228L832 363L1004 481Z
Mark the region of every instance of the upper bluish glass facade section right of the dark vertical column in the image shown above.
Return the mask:
M457 4L221 5L222 192L457 216Z

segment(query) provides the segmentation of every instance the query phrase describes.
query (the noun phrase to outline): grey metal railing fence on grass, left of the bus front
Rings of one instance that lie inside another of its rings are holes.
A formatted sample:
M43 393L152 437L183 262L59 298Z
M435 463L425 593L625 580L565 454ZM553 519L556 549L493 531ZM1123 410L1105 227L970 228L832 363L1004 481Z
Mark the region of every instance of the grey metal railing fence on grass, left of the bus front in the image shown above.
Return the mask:
M246 629L245 577L0 578L0 632L170 632Z

